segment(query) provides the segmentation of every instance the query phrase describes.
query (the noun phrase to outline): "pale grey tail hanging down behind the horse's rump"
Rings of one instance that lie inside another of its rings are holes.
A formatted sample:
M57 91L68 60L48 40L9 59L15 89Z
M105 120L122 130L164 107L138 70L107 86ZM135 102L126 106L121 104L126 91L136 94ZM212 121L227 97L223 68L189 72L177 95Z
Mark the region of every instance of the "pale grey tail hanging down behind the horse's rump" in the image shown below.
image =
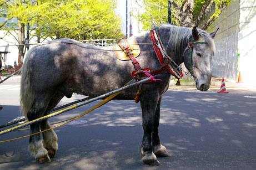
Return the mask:
M21 70L20 109L23 110L26 119L28 119L27 114L34 101L34 91L31 86L31 75L28 62L31 51L32 49L28 51Z

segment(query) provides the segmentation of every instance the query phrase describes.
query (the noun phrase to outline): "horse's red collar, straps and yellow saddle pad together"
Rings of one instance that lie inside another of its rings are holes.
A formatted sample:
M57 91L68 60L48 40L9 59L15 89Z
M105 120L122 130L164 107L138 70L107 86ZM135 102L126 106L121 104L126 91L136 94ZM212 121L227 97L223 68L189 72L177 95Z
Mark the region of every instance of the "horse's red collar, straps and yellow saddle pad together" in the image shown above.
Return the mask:
M172 59L168 59L165 56L167 54L166 54L166 50L164 48L164 45L162 43L162 39L160 37L158 27L155 27L152 30L150 30L150 38L152 39L155 54L157 54L157 58L159 60L159 63L162 65L157 70L153 70L151 68L142 69L140 67L138 61L135 59L135 57L139 55L140 50L137 51L136 47L134 47L134 46L137 46L137 49L139 49L139 45L135 44L137 42L133 37L130 37L130 39L125 39L124 38L124 39L120 40L119 48L121 48L122 51L119 51L118 47L116 47L116 45L114 45L112 48L115 51L115 53L116 53L116 55L119 59L122 58L121 60L132 60L132 63L134 65L135 69L137 69L137 70L133 71L132 76L133 76L133 78L135 78L137 80L139 80L141 78L147 78L147 77L152 78L153 77L152 75L160 74L160 73L163 73L164 71L168 71L170 74L174 75L175 78L177 78L177 79L182 78L182 76L183 76L182 69L180 69L179 66ZM133 42L133 44L130 45L130 42ZM137 51L139 53L134 54L135 51ZM175 66L175 65L177 65L177 66ZM148 81L146 83L150 83L152 81L156 81L156 80L151 79L150 81ZM136 103L139 101L140 93L141 93L141 91L138 90L137 95L134 99Z

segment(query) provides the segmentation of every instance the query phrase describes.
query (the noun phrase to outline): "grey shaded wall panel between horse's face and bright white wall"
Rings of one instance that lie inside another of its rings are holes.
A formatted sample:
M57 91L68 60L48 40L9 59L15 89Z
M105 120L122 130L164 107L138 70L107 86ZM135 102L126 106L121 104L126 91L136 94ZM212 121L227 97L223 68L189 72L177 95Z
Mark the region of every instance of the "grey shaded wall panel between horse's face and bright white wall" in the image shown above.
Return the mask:
M239 1L232 2L213 23L213 29L219 28L214 38L216 53L212 63L212 74L237 80L237 50L239 32Z

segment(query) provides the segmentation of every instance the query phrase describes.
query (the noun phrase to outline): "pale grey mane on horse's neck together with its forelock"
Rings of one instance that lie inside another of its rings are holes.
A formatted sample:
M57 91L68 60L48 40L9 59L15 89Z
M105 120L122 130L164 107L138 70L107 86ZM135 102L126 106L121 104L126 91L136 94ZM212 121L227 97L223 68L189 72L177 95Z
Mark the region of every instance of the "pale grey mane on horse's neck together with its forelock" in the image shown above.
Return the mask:
M169 49L173 51L175 55L182 54L184 47L188 45L189 40L192 37L192 28L178 27L170 24L163 24L160 29L161 28L169 32L167 50ZM209 33L205 32L202 29L198 29L198 32L200 33L200 35L202 35L205 42L207 42L209 48L215 53L215 44Z

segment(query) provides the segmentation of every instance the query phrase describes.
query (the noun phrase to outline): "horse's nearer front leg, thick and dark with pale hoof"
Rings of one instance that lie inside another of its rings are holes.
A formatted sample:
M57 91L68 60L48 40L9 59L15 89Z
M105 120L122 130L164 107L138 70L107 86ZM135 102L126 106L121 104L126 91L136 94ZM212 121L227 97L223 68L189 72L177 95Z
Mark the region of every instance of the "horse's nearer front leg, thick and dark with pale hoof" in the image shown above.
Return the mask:
M142 107L142 127L143 138L140 146L140 153L142 161L145 164L158 166L160 163L157 161L152 148L152 133L155 122L155 110L157 108L159 97L151 92L144 92L140 96L140 106Z

